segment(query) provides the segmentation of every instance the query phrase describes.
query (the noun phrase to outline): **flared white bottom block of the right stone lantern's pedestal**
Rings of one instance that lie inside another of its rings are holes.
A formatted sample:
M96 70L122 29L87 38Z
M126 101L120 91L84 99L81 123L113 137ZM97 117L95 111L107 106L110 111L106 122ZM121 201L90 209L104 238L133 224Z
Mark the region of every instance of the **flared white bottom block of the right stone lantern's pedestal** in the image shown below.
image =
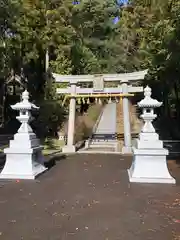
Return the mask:
M137 149L133 150L133 162L128 169L129 181L139 183L171 183L175 179L169 174L166 156L168 150Z

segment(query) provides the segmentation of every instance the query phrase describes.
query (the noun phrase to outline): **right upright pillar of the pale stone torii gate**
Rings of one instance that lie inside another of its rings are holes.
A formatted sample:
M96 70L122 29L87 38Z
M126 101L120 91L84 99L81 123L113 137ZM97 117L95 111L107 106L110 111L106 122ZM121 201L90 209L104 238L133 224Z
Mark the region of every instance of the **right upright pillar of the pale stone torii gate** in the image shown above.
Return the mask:
M122 93L128 93L128 82L122 82ZM130 116L129 116L129 99L128 97L123 97L123 125L124 125L124 146L122 148L122 153L131 153L131 127L130 127Z

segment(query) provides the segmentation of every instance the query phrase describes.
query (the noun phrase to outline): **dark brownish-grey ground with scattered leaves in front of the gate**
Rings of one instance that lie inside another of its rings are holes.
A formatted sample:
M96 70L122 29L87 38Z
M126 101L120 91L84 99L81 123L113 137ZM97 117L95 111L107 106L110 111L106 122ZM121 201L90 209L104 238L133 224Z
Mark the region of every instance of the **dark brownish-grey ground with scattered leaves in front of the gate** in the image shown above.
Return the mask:
M35 181L0 182L0 240L180 240L177 185L130 184L131 157L59 157Z

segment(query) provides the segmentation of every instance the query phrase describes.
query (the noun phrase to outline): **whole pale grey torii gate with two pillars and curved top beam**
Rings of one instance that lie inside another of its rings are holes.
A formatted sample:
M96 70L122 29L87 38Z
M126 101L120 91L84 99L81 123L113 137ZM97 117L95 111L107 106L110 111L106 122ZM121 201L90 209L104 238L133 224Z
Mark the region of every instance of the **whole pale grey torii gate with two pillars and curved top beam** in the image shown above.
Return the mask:
M68 139L67 145L63 148L63 152L75 152L74 145L74 129L75 129L75 113L76 98L78 97L97 97L97 96L119 96L122 98L123 104L123 123L124 123L124 146L123 153L131 152L131 129L129 116L129 96L133 93L143 92L143 87L133 86L139 80L143 80L147 70L122 73L122 74L96 74L96 75L60 75L52 73L57 83L69 83L67 88L58 88L58 94L65 94L70 98L69 104L69 122L68 122ZM79 83L93 82L93 88L81 88L77 86ZM118 82L118 87L104 87L105 82Z

